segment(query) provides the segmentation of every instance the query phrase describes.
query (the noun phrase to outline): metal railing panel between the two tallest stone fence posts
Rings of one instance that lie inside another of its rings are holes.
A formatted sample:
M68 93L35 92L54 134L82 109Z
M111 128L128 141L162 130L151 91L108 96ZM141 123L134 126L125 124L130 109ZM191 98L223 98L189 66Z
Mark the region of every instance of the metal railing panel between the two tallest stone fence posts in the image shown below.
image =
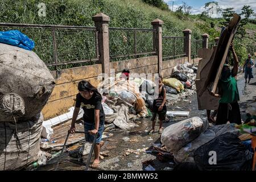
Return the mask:
M109 27L110 61L155 55L154 29Z

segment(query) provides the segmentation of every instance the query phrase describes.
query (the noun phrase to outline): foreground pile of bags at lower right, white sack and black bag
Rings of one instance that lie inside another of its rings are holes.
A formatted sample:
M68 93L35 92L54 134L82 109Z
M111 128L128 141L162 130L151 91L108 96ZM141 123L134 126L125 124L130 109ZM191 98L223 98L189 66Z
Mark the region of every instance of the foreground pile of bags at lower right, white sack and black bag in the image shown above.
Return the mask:
M242 137L234 123L209 127L207 120L193 117L166 127L161 142L176 164L195 164L200 170L251 170L253 152Z

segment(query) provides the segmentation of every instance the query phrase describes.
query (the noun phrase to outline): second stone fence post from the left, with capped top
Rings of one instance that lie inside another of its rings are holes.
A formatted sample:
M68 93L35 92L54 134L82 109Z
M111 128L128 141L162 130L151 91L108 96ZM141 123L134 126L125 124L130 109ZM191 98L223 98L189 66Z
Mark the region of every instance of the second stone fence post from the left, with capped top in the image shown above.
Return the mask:
M154 48L156 50L156 54L158 55L158 73L162 73L163 60L162 60L162 24L163 21L160 19L155 19L151 22L153 29L155 29L156 33L153 36Z

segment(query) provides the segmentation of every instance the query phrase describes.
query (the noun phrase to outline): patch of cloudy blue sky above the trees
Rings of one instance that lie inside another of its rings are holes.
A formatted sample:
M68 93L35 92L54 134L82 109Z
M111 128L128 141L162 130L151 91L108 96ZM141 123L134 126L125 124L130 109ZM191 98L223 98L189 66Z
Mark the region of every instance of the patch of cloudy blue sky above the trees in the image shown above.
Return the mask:
M213 0L212 0L213 1ZM204 11L204 4L207 2L212 2L209 0L164 0L166 2L170 9L172 10L172 2L174 2L174 11L182 5L182 2L187 3L187 5L192 6L191 14L200 14L202 11ZM250 5L251 9L254 10L254 13L256 13L256 0L215 0L218 2L218 5L221 7L221 9L225 9L227 7L234 7L234 11L236 13L241 13L241 9L243 5ZM213 14L212 17L216 18L219 17L218 14ZM255 16L254 16L255 17Z

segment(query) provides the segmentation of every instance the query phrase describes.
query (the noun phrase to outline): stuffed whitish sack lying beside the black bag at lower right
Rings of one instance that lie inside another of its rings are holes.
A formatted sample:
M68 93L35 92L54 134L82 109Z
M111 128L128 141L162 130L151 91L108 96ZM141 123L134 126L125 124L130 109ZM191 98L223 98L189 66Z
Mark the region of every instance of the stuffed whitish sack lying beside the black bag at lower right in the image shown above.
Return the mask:
M161 135L161 142L170 152L176 152L208 128L208 121L192 117L166 127Z

